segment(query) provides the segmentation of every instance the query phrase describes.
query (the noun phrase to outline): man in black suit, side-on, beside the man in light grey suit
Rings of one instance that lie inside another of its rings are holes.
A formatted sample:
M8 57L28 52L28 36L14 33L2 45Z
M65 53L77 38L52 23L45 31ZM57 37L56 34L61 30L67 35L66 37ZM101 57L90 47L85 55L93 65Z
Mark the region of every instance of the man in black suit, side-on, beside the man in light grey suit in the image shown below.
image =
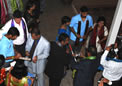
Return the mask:
M45 70L49 77L49 86L60 86L64 76L64 68L70 62L69 54L64 48L68 42L69 37L64 33L59 36L58 42L51 42L50 55Z

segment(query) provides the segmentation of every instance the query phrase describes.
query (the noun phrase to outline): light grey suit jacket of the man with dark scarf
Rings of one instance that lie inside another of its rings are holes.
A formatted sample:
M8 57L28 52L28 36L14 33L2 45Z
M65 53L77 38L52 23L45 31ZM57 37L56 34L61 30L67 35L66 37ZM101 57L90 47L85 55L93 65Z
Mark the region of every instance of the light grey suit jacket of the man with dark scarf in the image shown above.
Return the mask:
M29 35L26 43L26 51L30 52L33 42L34 40L32 39L32 36ZM38 59L45 59L48 57L49 51L50 51L50 43L43 36L41 36L38 44L36 45L33 57L37 56Z

